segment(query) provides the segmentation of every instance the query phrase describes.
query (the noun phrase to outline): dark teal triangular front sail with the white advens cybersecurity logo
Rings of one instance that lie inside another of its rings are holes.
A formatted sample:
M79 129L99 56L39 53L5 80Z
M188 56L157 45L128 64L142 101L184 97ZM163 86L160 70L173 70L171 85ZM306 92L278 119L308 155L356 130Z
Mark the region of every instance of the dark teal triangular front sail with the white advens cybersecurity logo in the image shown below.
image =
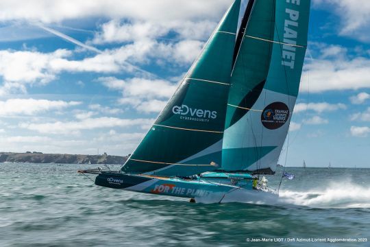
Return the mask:
M189 176L220 167L239 11L236 0L123 172Z

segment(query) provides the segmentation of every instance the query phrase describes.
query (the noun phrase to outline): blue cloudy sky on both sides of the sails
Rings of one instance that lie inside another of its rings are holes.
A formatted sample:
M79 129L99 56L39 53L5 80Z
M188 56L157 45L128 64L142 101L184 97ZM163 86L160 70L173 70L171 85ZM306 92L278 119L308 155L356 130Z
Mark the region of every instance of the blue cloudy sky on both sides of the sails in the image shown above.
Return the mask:
M231 3L2 0L0 152L132 153ZM369 150L370 1L312 0L280 163L370 167Z

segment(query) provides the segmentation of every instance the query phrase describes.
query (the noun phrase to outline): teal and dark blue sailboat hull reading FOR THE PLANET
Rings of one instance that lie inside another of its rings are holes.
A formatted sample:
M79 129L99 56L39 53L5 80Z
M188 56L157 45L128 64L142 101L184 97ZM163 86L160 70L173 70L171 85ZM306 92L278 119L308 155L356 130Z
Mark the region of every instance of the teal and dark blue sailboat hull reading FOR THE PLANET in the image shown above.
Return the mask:
M240 183L222 178L188 180L110 172L99 174L95 179L95 185L180 198L213 198L215 202L220 202L225 196L235 191L259 192L253 189L251 180Z

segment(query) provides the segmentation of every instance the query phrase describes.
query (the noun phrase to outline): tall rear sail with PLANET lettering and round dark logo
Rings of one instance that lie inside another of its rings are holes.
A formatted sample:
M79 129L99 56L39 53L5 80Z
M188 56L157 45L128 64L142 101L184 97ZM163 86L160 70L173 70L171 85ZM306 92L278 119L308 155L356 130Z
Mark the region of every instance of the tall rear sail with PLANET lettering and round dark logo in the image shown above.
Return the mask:
M310 1L249 1L249 8L236 47L221 169L273 174L298 95Z

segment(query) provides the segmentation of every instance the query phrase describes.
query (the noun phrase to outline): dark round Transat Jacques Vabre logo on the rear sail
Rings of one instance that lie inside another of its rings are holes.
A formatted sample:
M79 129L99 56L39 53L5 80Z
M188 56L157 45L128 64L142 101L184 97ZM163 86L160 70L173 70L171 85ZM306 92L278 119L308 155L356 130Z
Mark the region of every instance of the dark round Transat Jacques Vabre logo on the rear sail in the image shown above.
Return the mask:
M276 130L286 123L289 119L289 108L282 102L269 104L262 111L261 121L265 128Z

